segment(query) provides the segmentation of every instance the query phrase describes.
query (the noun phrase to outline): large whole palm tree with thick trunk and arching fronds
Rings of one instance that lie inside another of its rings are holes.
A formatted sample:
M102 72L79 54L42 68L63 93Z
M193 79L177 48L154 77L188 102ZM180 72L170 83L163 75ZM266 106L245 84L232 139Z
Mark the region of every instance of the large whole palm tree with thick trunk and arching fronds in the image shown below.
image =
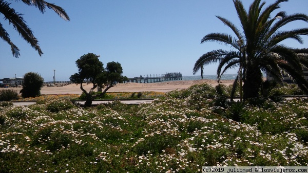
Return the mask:
M308 82L303 77L303 69L308 67L308 49L294 49L281 42L288 38L302 44L302 35L308 35L308 28L283 31L281 28L292 21L308 21L308 16L301 13L287 15L278 12L274 18L271 14L280 8L280 3L287 0L277 0L263 9L265 3L255 0L248 11L240 0L234 0L236 12L240 19L241 28L238 29L226 18L217 16L235 34L235 37L224 33L210 33L204 36L201 43L217 41L232 46L236 51L214 50L202 55L195 63L194 74L200 66L219 62L217 69L218 80L229 68L239 68L238 76L243 79L244 99L259 96L262 85L262 71L271 74L278 80L283 75L290 76L299 84L301 89L308 93ZM242 73L242 75L240 75Z

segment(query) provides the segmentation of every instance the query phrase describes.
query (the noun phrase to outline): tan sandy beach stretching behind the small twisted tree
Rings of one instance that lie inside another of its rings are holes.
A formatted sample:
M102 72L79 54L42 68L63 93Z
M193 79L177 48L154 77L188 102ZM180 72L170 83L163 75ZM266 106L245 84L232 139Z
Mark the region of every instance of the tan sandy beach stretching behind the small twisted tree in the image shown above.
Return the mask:
M221 80L221 84L229 85L234 80ZM202 79L202 80L176 80L176 81L164 81L155 83L118 83L116 87L112 87L108 92L143 92L143 91L156 91L156 92L169 92L172 90L187 89L194 84L208 83L216 86L217 80ZM84 83L83 88L86 91L90 91L92 84ZM13 89L13 88L12 88ZM17 88L18 92L22 88ZM64 87L43 87L41 94L81 94L80 85L69 84Z

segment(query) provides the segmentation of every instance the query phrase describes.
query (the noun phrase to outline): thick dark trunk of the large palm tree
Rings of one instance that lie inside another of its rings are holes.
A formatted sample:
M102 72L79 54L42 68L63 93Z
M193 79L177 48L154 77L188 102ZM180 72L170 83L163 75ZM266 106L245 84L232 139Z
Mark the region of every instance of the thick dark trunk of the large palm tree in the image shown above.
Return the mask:
M263 81L262 78L263 75L259 67L253 65L246 66L243 84L244 100L259 97L259 91Z

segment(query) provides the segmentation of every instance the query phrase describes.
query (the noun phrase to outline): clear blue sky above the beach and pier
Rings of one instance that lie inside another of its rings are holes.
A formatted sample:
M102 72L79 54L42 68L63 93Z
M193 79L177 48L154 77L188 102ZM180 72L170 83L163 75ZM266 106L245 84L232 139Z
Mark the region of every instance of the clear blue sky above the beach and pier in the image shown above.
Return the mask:
M75 61L87 53L101 55L104 67L110 61L120 62L123 75L127 77L166 72L191 76L202 54L215 49L231 49L216 42L200 44L201 38L208 33L232 34L215 16L225 17L239 26L232 0L47 0L64 8L71 21L63 20L49 9L41 14L24 3L9 2L17 12L24 14L44 54L40 57L0 14L1 24L21 49L20 58L15 58L9 45L0 41L0 79L37 72L45 81L52 81L55 70L56 80L69 80L78 72ZM243 2L248 8L253 1ZM266 5L274 2L267 0ZM307 14L307 7L307 0L290 0L282 3L277 12ZM299 27L308 27L308 24L302 21L285 28ZM303 45L293 40L286 44L308 48L308 36L303 38ZM204 74L216 74L216 69L217 64L206 66ZM236 70L227 71L227 74L232 73Z

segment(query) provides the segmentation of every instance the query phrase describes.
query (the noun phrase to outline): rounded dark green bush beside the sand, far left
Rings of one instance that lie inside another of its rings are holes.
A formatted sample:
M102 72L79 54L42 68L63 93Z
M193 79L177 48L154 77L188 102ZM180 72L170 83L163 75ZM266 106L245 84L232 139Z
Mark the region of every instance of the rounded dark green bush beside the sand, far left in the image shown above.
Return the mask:
M41 96L41 88L43 87L43 77L34 72L28 72L24 75L23 89L21 90L22 97L37 97Z

